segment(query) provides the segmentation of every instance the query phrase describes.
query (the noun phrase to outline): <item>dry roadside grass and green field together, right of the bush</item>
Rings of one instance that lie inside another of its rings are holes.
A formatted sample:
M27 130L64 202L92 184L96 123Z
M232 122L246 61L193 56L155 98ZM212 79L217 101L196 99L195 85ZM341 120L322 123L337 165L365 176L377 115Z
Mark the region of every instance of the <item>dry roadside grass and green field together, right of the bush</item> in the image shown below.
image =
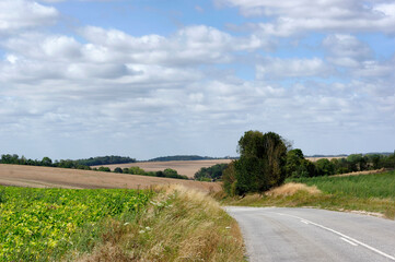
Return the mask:
M295 189L294 183L291 183L286 190L283 187L279 188L277 193L251 194L243 199L221 198L218 194L217 199L223 205L311 206L376 213L390 219L395 218L395 171L352 177L305 178L295 181L309 187ZM312 187L316 187L318 191Z

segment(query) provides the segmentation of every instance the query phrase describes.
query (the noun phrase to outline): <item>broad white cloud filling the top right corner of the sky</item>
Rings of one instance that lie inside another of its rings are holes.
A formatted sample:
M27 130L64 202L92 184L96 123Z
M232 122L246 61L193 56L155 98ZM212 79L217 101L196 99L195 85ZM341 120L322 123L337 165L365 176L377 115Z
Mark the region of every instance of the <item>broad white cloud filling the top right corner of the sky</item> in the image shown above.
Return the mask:
M236 7L246 16L269 17L256 23L263 34L287 37L306 32L395 33L395 3L359 0L217 0L222 5Z

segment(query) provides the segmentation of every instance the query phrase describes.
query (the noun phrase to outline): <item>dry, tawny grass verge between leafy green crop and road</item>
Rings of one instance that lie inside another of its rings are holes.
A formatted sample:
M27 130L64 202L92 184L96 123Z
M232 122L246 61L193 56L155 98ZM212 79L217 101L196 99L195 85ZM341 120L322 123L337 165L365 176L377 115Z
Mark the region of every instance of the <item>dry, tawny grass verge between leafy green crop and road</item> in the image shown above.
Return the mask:
M132 222L112 221L89 254L70 261L244 261L236 222L205 193L169 187Z

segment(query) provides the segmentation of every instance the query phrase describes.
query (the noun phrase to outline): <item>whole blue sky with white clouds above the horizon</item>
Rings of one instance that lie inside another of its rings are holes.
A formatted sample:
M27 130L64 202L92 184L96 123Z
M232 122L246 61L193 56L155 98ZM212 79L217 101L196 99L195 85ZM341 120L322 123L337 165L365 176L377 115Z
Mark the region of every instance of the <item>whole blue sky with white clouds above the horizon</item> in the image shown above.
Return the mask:
M0 154L395 150L393 0L0 0Z

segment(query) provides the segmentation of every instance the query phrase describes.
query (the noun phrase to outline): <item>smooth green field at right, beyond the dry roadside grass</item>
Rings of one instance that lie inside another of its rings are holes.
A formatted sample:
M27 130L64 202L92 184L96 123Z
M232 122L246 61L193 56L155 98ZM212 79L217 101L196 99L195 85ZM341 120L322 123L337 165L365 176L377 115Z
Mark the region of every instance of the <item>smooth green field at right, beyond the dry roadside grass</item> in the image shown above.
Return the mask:
M307 186L315 184L321 191L329 194L395 200L395 171L349 177L290 179L288 182L290 181Z

